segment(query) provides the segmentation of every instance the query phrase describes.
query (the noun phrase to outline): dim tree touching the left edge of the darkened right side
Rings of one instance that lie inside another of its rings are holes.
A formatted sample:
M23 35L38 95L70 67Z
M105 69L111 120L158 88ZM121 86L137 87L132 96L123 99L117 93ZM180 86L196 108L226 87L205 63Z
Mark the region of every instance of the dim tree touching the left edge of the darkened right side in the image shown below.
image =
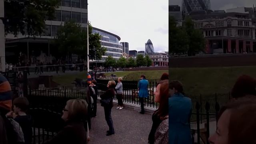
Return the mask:
M169 17L169 55L186 54L188 51L189 37L186 30L181 26L176 26L176 21Z

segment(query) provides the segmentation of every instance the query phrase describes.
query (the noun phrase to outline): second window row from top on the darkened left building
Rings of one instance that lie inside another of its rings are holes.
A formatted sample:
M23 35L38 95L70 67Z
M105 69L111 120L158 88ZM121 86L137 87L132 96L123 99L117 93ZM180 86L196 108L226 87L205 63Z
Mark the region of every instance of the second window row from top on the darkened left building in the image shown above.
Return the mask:
M87 13L81 12L70 12L65 10L56 10L55 18L56 21L66 22L69 20L74 20L76 23L84 23L87 24L88 15Z

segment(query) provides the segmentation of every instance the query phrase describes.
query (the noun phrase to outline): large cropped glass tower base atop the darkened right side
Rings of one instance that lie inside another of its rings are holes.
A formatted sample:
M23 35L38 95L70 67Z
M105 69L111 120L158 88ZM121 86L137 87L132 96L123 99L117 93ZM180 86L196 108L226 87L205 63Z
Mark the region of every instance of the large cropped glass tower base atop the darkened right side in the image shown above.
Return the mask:
M183 0L182 1L182 15L188 15L195 10L210 10L210 0Z

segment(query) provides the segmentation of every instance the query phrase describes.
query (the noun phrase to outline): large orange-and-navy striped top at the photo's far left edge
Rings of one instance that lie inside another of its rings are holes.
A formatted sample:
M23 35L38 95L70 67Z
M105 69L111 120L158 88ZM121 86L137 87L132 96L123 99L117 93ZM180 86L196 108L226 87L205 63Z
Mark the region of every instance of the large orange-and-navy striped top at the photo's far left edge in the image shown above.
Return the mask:
M8 80L0 74L0 108L12 110L12 89Z

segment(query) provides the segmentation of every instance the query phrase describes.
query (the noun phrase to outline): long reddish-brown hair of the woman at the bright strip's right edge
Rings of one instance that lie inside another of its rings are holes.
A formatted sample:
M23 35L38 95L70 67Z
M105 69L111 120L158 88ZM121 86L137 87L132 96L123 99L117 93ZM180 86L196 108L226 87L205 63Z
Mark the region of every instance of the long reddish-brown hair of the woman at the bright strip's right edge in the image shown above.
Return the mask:
M168 89L168 80L161 80L158 84L160 85L160 102L158 108L158 116L164 118L168 115L168 98L169 98L169 89Z

